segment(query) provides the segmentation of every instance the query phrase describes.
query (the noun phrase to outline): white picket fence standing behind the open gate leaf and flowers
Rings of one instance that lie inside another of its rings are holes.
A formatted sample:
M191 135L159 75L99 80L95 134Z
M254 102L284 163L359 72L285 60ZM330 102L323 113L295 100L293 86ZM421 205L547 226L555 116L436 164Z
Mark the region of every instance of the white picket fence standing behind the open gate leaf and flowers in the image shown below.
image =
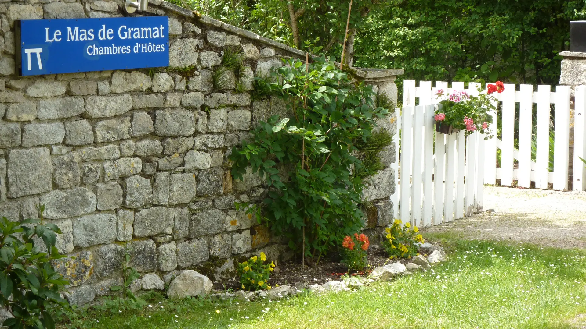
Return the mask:
M445 81L437 81L432 88L431 81L420 81L419 86L414 80L404 81L403 104L415 105L415 98L419 104L435 104L435 91L444 89L464 90L464 83L453 82L448 88ZM469 92L476 92L479 84L470 83ZM574 140L570 140L570 87L558 85L552 92L548 85L538 85L533 91L533 85L522 84L516 90L515 84L505 84L505 90L497 96L502 102L502 136L501 139L486 140L483 145L483 180L485 184L500 184L511 186L517 180L518 186L531 187L532 181L538 189L547 189L548 183L553 184L554 190L568 189L568 176L573 174L573 190L586 190L586 169L580 160L586 158L586 86L578 86L575 90L574 105ZM519 149L514 147L515 139L515 111L516 102L519 102ZM533 122L533 104L537 107L537 122ZM550 137L550 104L555 104L554 125L554 167L549 172L549 137ZM496 104L495 104L496 105ZM496 111L491 113L493 123L490 129L495 131L499 119ZM532 160L532 127L536 124L536 159ZM495 134L496 135L496 134ZM573 167L568 168L570 143L574 144ZM497 167L497 149L500 149L501 162ZM517 169L515 169L517 160Z

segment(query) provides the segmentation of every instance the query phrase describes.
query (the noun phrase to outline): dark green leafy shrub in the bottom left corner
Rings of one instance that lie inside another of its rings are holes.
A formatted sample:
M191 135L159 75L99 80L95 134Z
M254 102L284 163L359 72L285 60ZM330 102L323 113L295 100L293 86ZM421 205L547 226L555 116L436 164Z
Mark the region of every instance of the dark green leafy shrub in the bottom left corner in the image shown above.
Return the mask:
M51 262L65 256L55 247L55 224L40 218L11 222L0 220L0 303L12 314L2 325L9 328L53 329L53 316L60 315L69 304L60 296L69 282L55 272ZM42 240L46 250L37 245Z

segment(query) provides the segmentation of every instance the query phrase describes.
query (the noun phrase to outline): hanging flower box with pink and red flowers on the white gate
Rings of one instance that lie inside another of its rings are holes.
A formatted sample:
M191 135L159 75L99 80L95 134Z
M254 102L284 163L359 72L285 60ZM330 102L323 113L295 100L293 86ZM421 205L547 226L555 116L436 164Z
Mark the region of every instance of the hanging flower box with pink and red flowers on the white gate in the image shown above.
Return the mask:
M466 91L452 91L448 94L438 90L436 95L441 99L435 111L435 131L451 135L454 132L465 131L465 135L478 131L486 135L485 139L492 138L488 124L492 122L489 111L496 111L496 98L493 92L502 92L505 85L497 81L496 84L486 85L486 91L478 88L478 96L469 95Z

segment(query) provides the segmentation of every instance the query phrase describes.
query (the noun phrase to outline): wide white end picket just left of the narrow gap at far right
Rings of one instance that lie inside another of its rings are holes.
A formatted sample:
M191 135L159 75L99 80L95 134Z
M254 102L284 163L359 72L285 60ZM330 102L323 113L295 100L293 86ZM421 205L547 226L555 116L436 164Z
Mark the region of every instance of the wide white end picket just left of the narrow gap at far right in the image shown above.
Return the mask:
M568 162L570 156L570 86L556 87L556 125L554 127L553 189L568 189Z

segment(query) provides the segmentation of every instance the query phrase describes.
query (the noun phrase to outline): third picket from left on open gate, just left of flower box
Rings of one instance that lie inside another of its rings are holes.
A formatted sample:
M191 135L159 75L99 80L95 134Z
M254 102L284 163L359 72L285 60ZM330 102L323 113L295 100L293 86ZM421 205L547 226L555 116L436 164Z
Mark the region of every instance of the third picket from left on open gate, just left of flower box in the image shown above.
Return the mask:
M426 105L423 136L423 226L431 225L433 214L434 115L435 105Z

